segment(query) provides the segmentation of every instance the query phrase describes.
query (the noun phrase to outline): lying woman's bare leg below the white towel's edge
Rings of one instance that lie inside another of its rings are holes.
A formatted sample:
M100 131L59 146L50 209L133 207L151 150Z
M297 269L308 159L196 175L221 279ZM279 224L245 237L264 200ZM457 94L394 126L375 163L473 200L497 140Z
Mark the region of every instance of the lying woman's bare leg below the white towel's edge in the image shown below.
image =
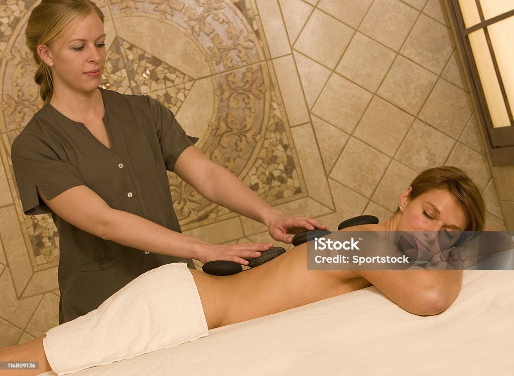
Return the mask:
M29 376L50 371L43 348L44 335L18 346L0 348L0 362L39 362L39 369L9 370L12 376Z

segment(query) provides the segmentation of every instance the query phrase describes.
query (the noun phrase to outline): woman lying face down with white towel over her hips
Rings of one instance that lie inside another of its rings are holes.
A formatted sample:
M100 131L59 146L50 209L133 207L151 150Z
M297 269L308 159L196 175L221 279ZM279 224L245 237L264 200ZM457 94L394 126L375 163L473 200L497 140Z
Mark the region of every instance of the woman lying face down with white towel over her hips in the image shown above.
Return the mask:
M418 260L440 254L463 231L482 231L485 205L478 186L455 167L419 174L399 198L393 217L344 231L416 235ZM435 267L445 269L445 260ZM418 315L443 312L461 289L462 270L307 270L307 245L293 248L261 267L214 276L170 264L147 272L98 309L51 329L26 344L0 350L0 361L40 361L38 374L59 374L111 363L192 341L208 328L316 302L375 285L394 303ZM192 276L192 277L191 277ZM176 288L167 289L169 284ZM150 289L149 286L162 286ZM197 289L197 292L196 292ZM193 292L192 292L193 291ZM201 302L201 304L200 304ZM32 372L32 373L30 373ZM10 373L15 375L16 372Z

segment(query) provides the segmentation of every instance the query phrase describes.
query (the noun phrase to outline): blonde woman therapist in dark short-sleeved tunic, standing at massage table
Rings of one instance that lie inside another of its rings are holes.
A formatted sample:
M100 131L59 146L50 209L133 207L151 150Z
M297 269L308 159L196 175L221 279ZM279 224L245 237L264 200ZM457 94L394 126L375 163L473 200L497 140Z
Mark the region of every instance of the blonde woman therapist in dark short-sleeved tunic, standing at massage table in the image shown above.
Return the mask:
M100 89L103 20L88 0L43 0L26 31L45 104L14 140L12 163L25 214L51 212L59 230L61 324L163 264L246 265L272 246L212 245L181 234L167 170L208 200L264 223L276 240L326 228L272 209L205 157L161 103Z

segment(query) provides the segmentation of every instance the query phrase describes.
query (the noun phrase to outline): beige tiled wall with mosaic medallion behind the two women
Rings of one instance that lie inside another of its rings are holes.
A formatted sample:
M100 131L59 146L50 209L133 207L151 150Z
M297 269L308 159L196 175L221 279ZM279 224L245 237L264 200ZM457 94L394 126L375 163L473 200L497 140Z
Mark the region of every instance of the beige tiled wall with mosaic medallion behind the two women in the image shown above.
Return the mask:
M204 153L284 212L333 229L363 213L386 219L418 172L451 164L485 190L488 225L504 228L439 0L97 3L103 86L161 100ZM58 234L48 215L23 216L9 157L41 106L23 42L35 5L0 5L0 346L58 322ZM270 240L172 175L170 185L187 234Z

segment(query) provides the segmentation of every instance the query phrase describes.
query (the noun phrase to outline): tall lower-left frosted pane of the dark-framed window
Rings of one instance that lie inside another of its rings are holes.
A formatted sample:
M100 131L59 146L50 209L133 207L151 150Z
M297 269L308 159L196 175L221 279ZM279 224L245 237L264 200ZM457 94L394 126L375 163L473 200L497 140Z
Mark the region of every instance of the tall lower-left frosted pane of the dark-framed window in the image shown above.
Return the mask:
M492 124L494 127L509 126L510 121L503 101L500 85L496 78L494 66L492 65L484 31L480 29L472 32L468 36L476 68L479 71L480 82L482 83Z

